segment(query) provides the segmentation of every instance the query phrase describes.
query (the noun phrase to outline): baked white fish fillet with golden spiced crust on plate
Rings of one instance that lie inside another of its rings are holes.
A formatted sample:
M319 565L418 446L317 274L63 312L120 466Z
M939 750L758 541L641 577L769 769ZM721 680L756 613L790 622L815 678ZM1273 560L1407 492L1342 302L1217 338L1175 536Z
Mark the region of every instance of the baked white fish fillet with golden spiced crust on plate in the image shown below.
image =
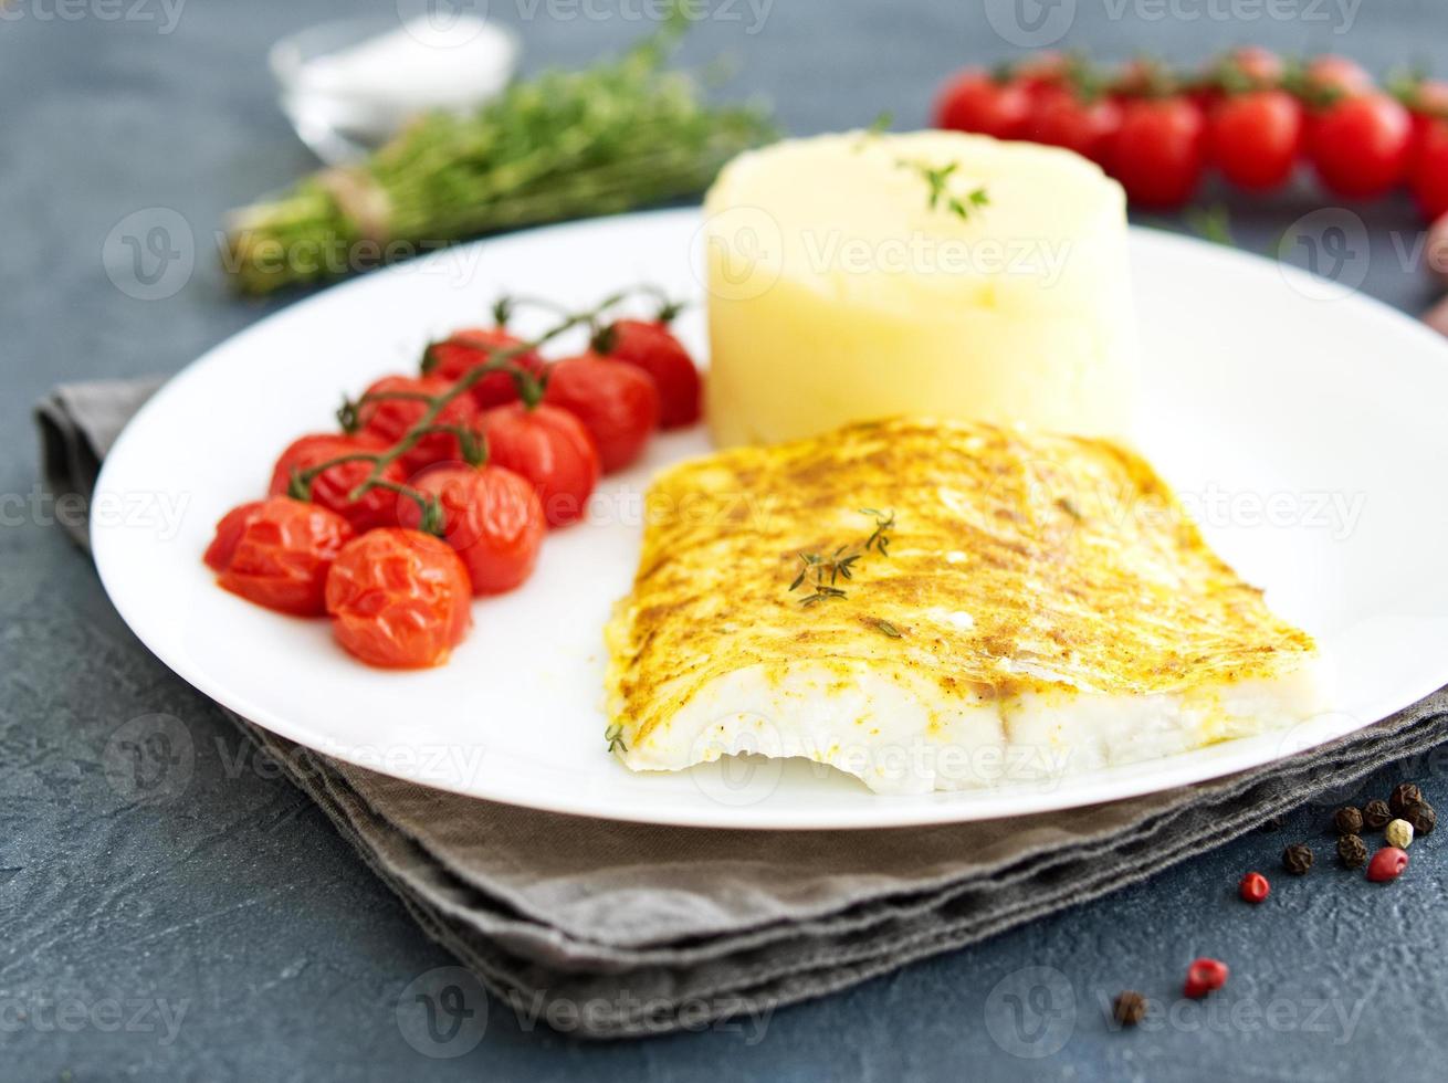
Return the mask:
M634 770L804 756L918 793L1319 709L1312 639L1105 440L891 420L662 475L607 628Z

